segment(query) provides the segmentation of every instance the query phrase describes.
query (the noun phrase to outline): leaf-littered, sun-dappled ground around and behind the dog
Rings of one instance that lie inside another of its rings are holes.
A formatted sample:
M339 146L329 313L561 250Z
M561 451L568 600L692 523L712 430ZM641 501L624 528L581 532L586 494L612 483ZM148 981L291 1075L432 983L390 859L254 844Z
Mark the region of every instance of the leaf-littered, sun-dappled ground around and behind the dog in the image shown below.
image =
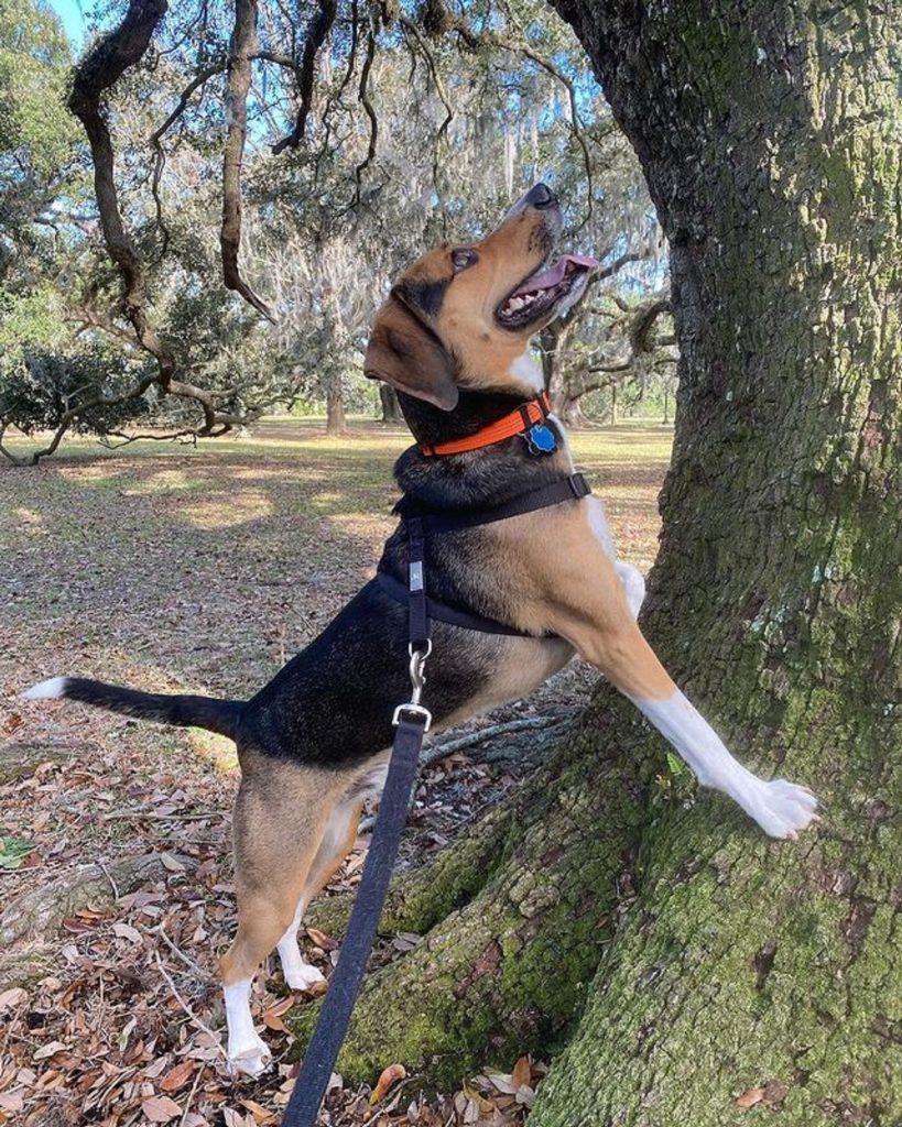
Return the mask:
M0 467L0 1124L277 1119L293 1083L281 1017L306 999L275 964L254 1006L277 1071L233 1085L220 1048L232 745L16 694L78 673L247 695L373 574L393 525L391 464L408 442L401 428L361 424L333 441L313 423L272 421L197 450L72 444L37 469ZM574 436L620 554L643 571L670 442L661 426ZM515 787L593 680L575 663L529 700L443 734L401 863ZM333 890L359 880L365 840ZM378 958L412 941L388 937ZM333 938L311 929L304 946L328 970ZM519 1121L542 1065L498 1065L431 1102L401 1083L371 1109L368 1089L337 1086L331 1121Z

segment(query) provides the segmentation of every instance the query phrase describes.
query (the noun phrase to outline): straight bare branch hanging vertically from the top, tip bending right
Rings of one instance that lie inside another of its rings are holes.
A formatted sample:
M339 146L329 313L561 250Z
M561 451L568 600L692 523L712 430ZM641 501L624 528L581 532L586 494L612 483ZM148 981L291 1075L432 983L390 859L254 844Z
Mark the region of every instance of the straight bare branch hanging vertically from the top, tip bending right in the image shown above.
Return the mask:
M222 162L222 276L228 290L235 290L245 301L275 325L269 307L241 277L238 252L241 243L241 163L247 141L247 92L250 89L250 60L257 51L257 0L236 0L235 30L229 57L227 109L229 134Z

